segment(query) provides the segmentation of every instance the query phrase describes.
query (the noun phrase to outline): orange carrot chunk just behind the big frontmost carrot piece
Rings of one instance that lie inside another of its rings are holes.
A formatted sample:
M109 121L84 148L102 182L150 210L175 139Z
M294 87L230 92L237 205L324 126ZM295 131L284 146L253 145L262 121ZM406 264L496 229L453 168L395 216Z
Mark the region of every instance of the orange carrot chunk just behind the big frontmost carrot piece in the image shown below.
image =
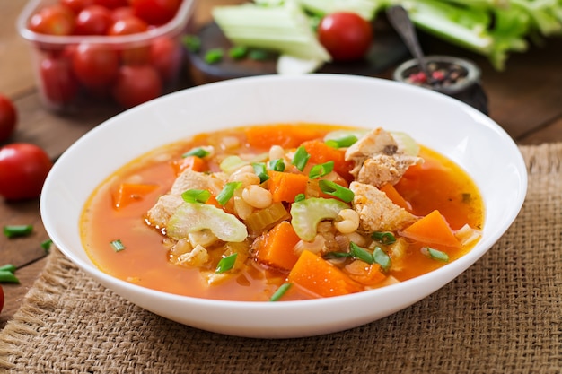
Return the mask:
M294 233L291 223L283 221L264 234L259 242L256 257L262 263L291 270L299 256L294 246L300 238Z

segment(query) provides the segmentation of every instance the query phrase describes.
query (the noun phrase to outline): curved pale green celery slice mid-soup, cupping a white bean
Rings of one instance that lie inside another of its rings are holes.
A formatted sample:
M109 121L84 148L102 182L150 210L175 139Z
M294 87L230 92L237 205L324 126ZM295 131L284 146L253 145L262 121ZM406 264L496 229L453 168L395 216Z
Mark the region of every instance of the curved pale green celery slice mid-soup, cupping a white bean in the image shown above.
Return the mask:
M334 220L341 210L348 208L348 204L336 199L311 197L291 205L291 224L299 238L311 241L321 221Z

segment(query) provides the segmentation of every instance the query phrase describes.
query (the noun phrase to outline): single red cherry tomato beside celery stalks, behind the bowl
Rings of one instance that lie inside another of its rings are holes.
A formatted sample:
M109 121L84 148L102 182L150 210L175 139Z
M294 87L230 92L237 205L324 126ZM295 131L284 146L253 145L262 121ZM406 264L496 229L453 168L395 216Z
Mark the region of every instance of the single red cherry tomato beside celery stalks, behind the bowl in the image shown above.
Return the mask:
M371 47L373 26L356 13L331 13L322 18L318 39L334 60L357 60Z

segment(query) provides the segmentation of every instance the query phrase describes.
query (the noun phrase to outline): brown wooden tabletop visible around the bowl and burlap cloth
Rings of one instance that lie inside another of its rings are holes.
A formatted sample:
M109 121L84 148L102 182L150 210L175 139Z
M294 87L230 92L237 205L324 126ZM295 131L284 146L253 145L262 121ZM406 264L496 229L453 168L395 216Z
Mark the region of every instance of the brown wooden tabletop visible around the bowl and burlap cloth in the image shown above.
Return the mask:
M199 2L211 6L214 0ZM116 114L105 111L80 116L60 116L45 109L38 97L26 41L15 29L15 19L26 0L0 2L0 92L11 98L19 113L17 132L10 142L29 142L57 156L75 140ZM205 17L207 9L198 8L196 16ZM562 141L562 39L548 39L542 48L512 55L504 72L496 72L485 58L447 46L439 41L428 52L465 55L482 68L482 83L489 100L490 117L514 137L517 144L541 144ZM390 69L383 78L390 78ZM189 86L186 78L185 87ZM0 236L0 265L17 266L20 284L4 283L5 305L0 328L13 316L22 298L46 263L40 243L48 239L39 212L39 200L7 203L0 200L0 225L32 224L31 236L6 239Z

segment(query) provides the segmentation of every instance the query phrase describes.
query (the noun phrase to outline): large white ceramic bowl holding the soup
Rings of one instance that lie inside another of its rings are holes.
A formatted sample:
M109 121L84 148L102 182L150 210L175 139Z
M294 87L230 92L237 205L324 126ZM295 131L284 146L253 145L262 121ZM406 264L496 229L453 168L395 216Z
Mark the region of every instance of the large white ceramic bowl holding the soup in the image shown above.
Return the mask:
M153 291L102 273L86 256L78 220L94 187L137 156L200 131L276 122L320 122L405 131L476 181L486 204L483 237L469 254L415 279L321 300L239 302ZM123 139L128 139L123 142ZM48 175L40 211L58 248L123 298L185 325L250 337L321 335L364 325L425 298L474 264L519 213L522 155L489 117L405 83L349 75L261 76L179 91L129 109L73 144Z

